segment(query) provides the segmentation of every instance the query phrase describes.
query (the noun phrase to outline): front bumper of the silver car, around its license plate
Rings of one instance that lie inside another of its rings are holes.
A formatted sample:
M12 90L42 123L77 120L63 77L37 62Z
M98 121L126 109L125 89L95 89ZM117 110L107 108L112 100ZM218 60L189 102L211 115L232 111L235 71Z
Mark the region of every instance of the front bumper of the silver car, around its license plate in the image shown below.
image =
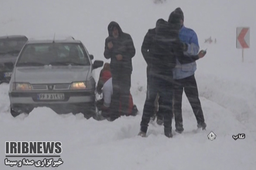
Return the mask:
M38 100L40 93L63 93L64 100ZM9 99L11 106L13 105L33 105L35 107L49 106L49 105L63 105L63 104L79 104L79 103L93 103L95 102L94 91L37 91L37 92L9 92Z

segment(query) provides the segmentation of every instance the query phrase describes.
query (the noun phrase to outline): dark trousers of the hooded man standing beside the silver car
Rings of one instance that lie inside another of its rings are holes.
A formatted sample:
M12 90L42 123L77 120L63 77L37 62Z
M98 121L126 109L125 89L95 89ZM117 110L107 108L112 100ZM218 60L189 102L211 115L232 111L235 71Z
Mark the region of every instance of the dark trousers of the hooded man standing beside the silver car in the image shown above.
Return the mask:
M131 73L116 73L112 71L113 96L111 100L113 117L129 114L129 95L131 86ZM119 103L121 111L119 113Z

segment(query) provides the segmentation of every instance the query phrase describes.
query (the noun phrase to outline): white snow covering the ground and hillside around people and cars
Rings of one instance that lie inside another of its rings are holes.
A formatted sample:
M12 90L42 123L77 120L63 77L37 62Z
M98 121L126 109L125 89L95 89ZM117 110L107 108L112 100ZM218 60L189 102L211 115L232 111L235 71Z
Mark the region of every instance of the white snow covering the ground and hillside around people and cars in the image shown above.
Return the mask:
M141 138L137 134L145 101L146 64L140 47L155 21L167 19L178 6L184 12L185 26L197 32L201 49L208 49L206 57L197 61L196 71L207 130L195 131L196 119L184 95L184 133L174 132L169 139L162 126L150 125L149 136ZM107 25L117 21L132 36L137 50L131 92L140 114L108 122L37 108L29 116L13 118L9 113L9 85L1 84L0 169L35 169L4 165L5 141L61 141L64 163L49 169L255 170L255 6L251 0L167 0L159 5L153 0L2 1L1 35L25 34L32 38L69 34L82 40L97 60L107 61L103 57ZM240 26L251 28L251 48L245 50L244 63L241 50L235 48L236 27ZM209 36L217 38L217 44L204 44ZM210 131L217 135L216 140L208 140ZM238 133L245 133L245 139L235 141L232 135Z

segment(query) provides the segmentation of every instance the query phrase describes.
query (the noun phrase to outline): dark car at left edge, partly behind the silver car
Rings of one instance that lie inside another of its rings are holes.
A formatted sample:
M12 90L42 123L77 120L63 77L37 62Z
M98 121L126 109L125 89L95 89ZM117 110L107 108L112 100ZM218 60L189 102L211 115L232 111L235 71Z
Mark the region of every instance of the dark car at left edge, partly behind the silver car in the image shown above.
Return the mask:
M9 83L17 56L27 42L25 35L0 36L0 83Z

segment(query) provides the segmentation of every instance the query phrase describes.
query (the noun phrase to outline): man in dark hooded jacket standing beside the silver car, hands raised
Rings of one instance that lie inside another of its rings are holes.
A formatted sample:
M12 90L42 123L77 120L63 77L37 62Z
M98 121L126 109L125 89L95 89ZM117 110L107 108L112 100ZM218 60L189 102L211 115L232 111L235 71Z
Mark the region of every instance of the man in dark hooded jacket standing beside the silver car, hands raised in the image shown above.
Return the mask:
M117 22L108 24L108 37L105 40L104 56L111 59L113 96L112 115L119 117L119 98L121 98L122 115L128 115L129 94L132 74L132 58L135 56L135 47L130 34L124 33ZM116 113L116 114L114 114Z

